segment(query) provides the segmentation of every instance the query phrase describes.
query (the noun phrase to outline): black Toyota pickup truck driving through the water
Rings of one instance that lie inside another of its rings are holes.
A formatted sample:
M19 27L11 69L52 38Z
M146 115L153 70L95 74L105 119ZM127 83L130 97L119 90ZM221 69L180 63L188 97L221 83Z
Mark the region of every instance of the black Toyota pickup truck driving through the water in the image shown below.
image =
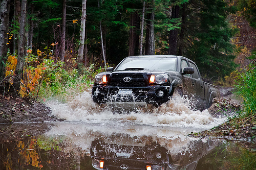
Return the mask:
M94 102L124 106L160 106L174 93L196 100L195 109L200 110L220 96L217 86L202 81L195 62L172 55L126 57L115 69L96 75L92 88Z

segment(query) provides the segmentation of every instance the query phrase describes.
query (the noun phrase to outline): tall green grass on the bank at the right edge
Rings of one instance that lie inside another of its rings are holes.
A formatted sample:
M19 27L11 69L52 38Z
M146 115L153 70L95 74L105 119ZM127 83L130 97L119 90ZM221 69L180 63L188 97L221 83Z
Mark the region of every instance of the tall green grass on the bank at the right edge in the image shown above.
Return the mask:
M241 73L236 81L235 92L244 100L244 116L256 114L256 61Z

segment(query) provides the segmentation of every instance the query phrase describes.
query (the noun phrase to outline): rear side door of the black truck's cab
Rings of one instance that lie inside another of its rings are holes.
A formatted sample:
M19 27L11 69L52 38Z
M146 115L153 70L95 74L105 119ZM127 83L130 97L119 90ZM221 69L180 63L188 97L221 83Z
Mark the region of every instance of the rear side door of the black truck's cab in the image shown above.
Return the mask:
M204 84L203 81L201 79L199 70L197 68L197 65L188 61L190 67L193 67L195 72L192 74L192 84L193 86L195 86L195 90L196 90L196 98L198 100L200 100L200 104L203 106L204 103Z

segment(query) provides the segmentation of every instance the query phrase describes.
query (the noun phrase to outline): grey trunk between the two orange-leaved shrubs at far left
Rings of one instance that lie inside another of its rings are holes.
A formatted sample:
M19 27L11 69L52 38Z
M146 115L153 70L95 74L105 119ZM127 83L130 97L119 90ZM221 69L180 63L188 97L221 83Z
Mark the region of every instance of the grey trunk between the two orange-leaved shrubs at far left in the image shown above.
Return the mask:
M14 83L13 83L15 93L19 90L20 79L23 78L22 74L23 74L23 67L24 67L24 62L25 62L25 50L26 50L25 49L26 14L27 14L27 0L22 0L20 25L19 25L18 58L17 58L17 66L15 69L15 78L14 78Z

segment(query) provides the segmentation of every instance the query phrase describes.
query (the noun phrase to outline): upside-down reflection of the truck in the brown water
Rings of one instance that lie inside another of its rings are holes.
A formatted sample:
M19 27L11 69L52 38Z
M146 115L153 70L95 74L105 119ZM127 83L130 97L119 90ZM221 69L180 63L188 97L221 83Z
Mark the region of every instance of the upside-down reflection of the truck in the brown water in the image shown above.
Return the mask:
M173 154L152 138L129 143L126 137L121 137L125 143L113 138L94 140L90 151L92 166L99 170L196 169L199 159L216 147L215 142L199 139L191 142L191 148L186 148L186 151Z

